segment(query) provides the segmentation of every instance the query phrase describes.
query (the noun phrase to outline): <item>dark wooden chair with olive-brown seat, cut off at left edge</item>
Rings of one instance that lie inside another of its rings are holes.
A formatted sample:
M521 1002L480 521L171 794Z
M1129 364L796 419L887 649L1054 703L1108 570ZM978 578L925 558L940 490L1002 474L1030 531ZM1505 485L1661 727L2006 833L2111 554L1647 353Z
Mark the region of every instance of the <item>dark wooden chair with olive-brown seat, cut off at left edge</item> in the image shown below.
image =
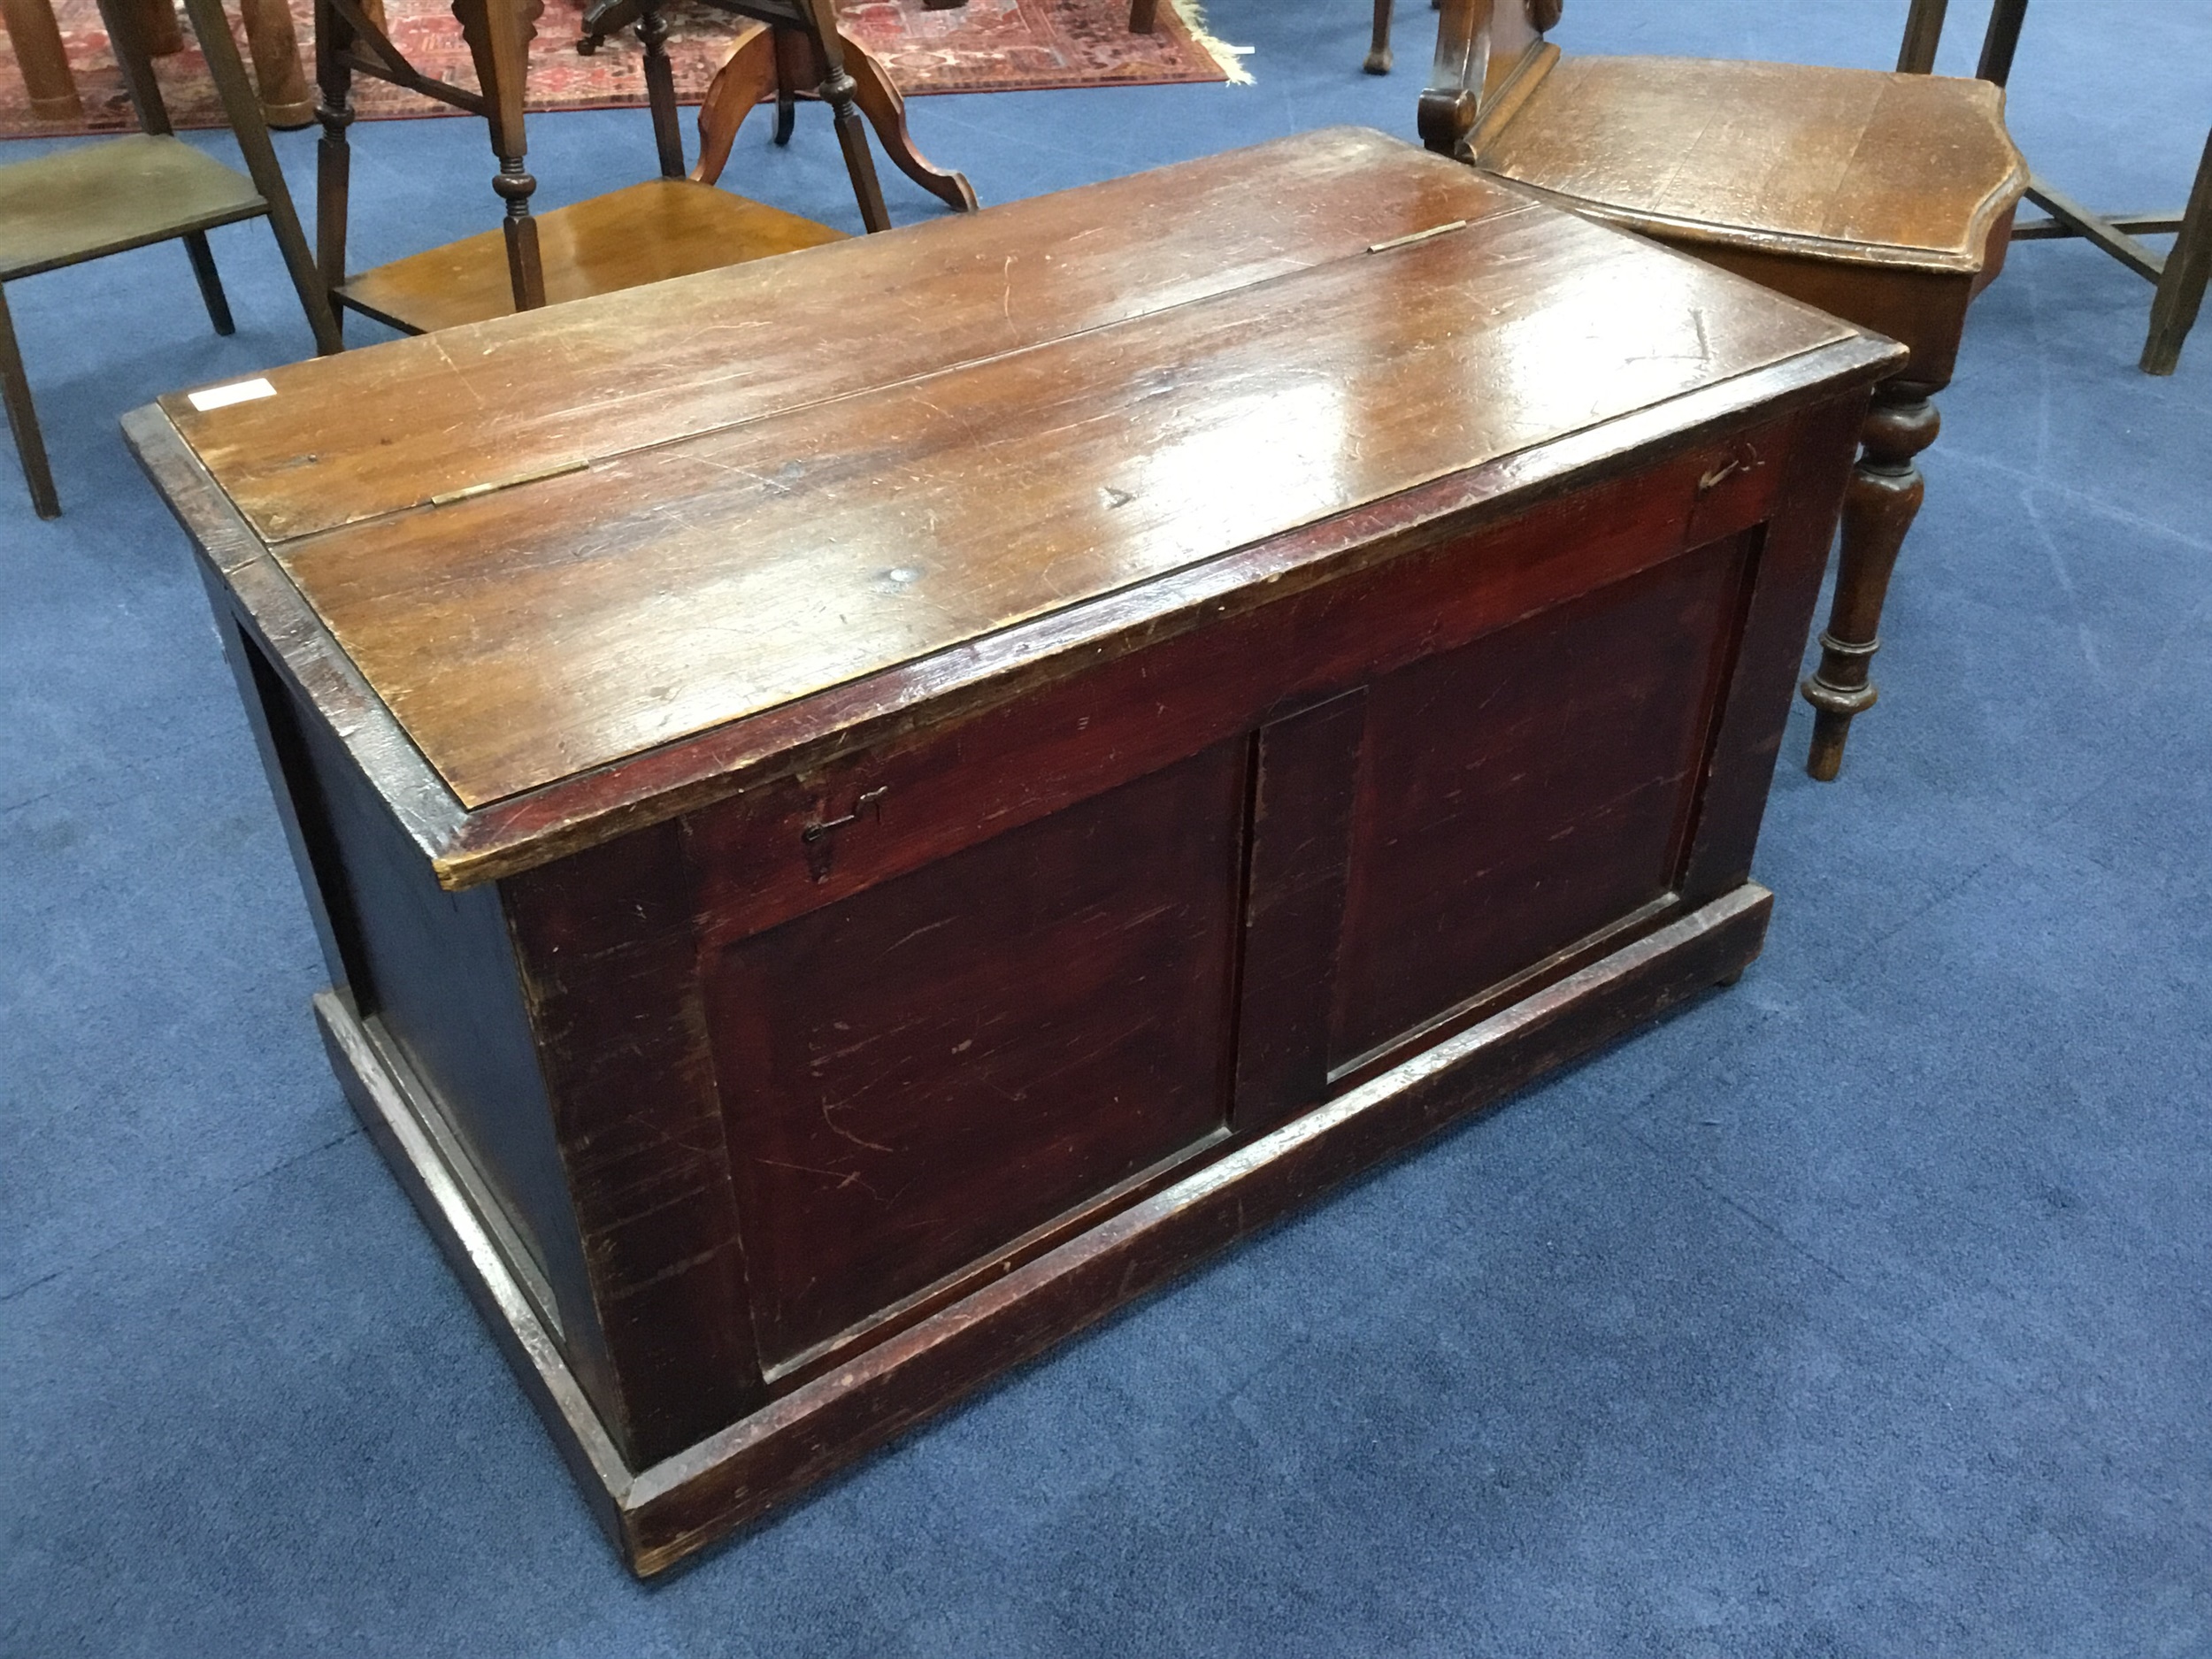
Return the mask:
M0 166L0 400L7 405L15 453L40 518L58 518L62 500L53 489L46 442L31 407L31 383L7 312L7 283L155 241L181 241L199 279L208 321L217 334L230 334L230 301L208 250L208 230L239 219L268 219L307 312L307 327L314 330L316 349L338 349L336 319L316 281L314 254L292 212L292 195L261 124L261 104L246 82L221 0L186 0L186 9L246 173L204 155L170 131L168 106L128 0L100 0L100 15L131 88L139 131Z

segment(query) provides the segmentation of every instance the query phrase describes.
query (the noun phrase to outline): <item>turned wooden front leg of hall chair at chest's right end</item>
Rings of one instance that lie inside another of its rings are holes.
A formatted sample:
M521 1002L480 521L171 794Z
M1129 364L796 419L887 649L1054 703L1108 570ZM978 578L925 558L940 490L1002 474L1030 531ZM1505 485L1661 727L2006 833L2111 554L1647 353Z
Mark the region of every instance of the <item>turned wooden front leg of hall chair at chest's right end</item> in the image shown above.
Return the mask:
M1805 701L1816 710L1805 770L1823 783L1834 783L1843 770L1851 717L1874 708L1867 664L1882 644L1882 599L1927 491L1913 458L1936 442L1942 427L1929 403L1933 392L1913 380L1885 380L1874 389L1858 465L1843 491L1836 602L1820 633L1820 668L1803 686Z

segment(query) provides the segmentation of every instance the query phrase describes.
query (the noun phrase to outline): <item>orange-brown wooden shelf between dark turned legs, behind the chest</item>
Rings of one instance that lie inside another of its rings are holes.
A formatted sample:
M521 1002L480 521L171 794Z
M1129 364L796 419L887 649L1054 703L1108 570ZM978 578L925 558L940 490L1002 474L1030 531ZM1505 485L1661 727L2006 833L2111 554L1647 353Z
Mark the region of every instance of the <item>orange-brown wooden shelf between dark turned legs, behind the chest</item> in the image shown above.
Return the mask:
M843 230L692 179L646 179L535 221L549 305L845 239ZM338 299L409 334L509 316L515 299L507 232L487 230L378 265L349 279Z

